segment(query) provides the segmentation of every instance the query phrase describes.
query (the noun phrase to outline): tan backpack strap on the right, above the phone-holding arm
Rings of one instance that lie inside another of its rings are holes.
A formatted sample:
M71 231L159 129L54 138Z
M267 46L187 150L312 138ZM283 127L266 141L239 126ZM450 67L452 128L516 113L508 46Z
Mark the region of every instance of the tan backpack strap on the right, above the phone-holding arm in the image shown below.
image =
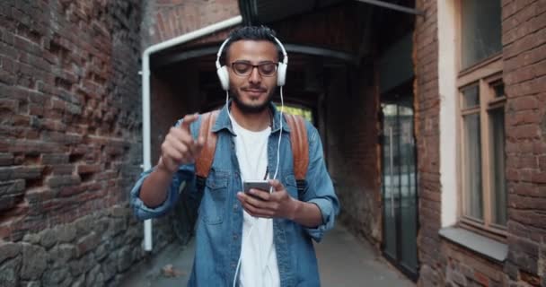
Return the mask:
M294 175L296 180L304 180L309 166L309 142L304 117L285 114L290 127L290 143L294 157Z

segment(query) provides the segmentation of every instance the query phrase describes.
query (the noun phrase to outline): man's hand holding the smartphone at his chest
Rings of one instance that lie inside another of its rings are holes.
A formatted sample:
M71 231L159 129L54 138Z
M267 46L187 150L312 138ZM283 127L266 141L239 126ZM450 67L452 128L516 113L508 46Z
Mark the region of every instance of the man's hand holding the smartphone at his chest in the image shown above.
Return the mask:
M237 193L237 199L244 210L255 217L286 218L294 220L296 210L300 204L286 192L286 188L277 179L269 179L273 192L251 188L250 195Z

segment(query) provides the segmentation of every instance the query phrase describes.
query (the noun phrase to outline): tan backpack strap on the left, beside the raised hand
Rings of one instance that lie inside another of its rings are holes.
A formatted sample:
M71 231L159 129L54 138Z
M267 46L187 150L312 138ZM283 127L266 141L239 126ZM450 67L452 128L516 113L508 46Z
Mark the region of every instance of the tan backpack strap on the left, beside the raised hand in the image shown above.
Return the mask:
M199 136L205 138L205 145L196 159L196 175L201 178L208 177L208 171L215 159L217 135L212 132L212 127L216 123L219 110L214 110L201 115L201 126L199 127Z

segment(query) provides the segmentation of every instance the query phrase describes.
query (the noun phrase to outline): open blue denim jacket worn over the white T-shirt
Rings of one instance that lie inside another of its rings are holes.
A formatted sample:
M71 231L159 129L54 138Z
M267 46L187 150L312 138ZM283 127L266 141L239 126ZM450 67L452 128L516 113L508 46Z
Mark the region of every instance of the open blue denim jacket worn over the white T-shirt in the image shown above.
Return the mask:
M269 170L277 166L277 143L280 132L279 112L270 104L274 120L268 142ZM200 117L189 127L194 138L198 137ZM304 226L287 219L273 220L273 237L277 251L280 285L320 286L317 259L311 239L321 241L324 231L334 226L339 213L339 201L334 192L330 175L323 160L321 138L309 122L306 122L309 141L309 167L307 187L303 192L296 188L293 156L290 145L290 129L283 120L280 143L280 163L277 174L290 196L316 204L321 210L322 224L316 228ZM181 121L177 123L180 125ZM242 205L235 196L242 190L239 164L235 155L233 133L227 109L220 111L212 131L217 134L215 158L206 180L202 199L198 206L196 224L196 254L188 286L232 286L235 268L241 254ZM194 164L181 165L172 177L166 200L160 206L148 208L140 200L140 187L153 171L147 170L137 180L130 193L130 203L141 220L166 213L179 196L179 187L186 181L197 192Z

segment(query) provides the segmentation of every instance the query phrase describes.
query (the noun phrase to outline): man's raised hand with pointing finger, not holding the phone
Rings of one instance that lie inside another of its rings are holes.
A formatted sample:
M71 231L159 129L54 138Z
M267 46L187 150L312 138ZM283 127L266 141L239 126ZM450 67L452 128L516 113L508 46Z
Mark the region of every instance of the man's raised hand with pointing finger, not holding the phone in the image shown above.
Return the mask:
M205 139L199 137L196 141L189 125L198 119L198 114L186 115L181 126L173 126L165 140L161 144L161 158L157 163L157 168L172 174L178 170L181 164L190 163L196 160L203 149Z

